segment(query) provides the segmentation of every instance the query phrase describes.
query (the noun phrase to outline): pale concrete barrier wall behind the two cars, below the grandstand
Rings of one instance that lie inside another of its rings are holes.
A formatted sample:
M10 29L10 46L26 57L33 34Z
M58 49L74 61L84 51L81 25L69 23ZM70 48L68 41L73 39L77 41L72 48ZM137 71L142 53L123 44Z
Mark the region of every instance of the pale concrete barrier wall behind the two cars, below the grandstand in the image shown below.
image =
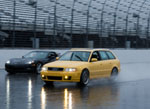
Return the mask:
M41 50L41 49L38 49ZM43 49L42 49L43 50ZM63 54L67 50L52 50ZM33 49L0 49L0 69L4 68L5 62L10 58L20 58ZM112 50L120 59L121 63L146 63L150 62L150 50Z

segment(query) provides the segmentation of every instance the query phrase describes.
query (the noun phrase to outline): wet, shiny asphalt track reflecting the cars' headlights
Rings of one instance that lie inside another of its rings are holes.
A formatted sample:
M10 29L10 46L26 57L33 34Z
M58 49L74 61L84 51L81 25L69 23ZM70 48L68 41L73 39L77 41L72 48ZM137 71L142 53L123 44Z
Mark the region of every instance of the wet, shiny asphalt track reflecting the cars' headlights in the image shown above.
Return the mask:
M116 81L99 79L87 87L40 75L8 75L0 70L0 109L150 109L150 63L124 63Z

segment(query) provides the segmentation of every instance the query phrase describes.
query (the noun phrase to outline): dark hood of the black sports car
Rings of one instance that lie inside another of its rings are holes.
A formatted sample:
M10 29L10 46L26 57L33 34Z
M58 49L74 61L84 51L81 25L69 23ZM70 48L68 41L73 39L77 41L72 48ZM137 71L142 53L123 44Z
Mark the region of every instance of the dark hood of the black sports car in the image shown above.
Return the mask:
M10 59L10 62L13 63L26 63L26 62L30 62L30 61L34 61L33 58L13 58Z

